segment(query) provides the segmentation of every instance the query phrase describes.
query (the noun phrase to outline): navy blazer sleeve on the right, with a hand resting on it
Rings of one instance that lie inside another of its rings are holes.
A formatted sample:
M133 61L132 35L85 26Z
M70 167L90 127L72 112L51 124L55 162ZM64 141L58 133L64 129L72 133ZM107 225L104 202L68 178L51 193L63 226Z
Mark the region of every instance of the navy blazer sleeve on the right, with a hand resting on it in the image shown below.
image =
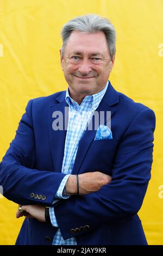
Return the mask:
M111 183L98 192L73 196L54 205L64 239L78 235L70 232L76 227L88 225L89 230L95 229L139 211L151 178L154 129L155 114L145 108L131 121L121 139L112 168Z

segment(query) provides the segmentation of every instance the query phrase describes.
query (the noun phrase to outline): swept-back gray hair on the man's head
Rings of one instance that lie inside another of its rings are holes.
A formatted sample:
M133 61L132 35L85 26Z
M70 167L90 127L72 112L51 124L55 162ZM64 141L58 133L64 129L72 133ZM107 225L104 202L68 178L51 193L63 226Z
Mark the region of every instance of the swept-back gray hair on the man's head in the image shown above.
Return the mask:
M62 57L65 54L66 44L72 31L87 33L103 32L109 47L110 57L112 58L114 56L116 52L116 32L114 26L112 26L108 19L100 17L96 14L87 14L68 21L61 30L63 42L61 48Z

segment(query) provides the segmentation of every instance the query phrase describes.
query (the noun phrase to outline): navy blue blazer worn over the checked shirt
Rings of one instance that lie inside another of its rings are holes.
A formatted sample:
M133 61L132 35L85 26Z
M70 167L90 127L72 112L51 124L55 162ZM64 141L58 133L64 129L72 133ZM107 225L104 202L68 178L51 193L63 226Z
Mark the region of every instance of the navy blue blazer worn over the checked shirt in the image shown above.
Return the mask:
M53 112L64 114L67 106L65 93L28 102L3 157L0 184L4 196L17 204L51 206L65 176L61 166L66 131L52 128ZM64 239L75 236L78 245L146 245L137 212L151 178L154 112L118 93L110 82L97 111L111 111L113 139L94 141L96 130L86 130L72 174L98 170L111 175L112 181L98 192L53 205L61 234ZM16 245L51 245L56 230L25 218Z

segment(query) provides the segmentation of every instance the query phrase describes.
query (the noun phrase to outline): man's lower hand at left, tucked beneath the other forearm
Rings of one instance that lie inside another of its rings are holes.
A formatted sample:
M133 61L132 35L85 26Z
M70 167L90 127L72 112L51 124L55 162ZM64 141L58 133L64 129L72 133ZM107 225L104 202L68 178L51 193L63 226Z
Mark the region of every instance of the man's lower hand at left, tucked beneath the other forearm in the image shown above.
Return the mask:
M18 205L20 207L20 205ZM36 218L38 221L46 222L45 207L41 205L22 205L24 212L19 212L17 209L16 218L25 216L26 218Z

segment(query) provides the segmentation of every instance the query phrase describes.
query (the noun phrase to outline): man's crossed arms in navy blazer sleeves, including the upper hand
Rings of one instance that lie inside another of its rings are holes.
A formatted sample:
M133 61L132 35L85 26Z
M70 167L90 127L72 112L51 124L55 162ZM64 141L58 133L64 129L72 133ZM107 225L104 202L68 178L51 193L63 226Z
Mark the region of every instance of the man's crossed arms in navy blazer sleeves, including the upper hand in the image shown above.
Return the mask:
M131 216L139 211L151 178L154 128L154 112L149 108L142 109L130 121L121 138L112 167L111 182L104 181L105 175L98 173L103 178L100 180L98 177L99 184L97 182L98 187L95 189L90 182L92 178L88 182L87 176L93 174L80 174L80 193L83 193L83 196L72 196L54 204L55 215L64 239L72 236L69 232L72 223L76 227L89 223L93 229L97 225L109 223L116 218ZM52 206L54 195L66 174L35 169L34 162L35 135L32 101L29 101L16 137L0 164L0 184L3 186L4 196L17 204ZM76 193L74 178L70 176L68 181L70 183L67 184L70 193L74 191ZM86 183L85 180L87 180ZM46 200L30 198L30 193L34 189L46 194ZM94 192L92 192L93 189ZM33 212L30 214L37 217Z

